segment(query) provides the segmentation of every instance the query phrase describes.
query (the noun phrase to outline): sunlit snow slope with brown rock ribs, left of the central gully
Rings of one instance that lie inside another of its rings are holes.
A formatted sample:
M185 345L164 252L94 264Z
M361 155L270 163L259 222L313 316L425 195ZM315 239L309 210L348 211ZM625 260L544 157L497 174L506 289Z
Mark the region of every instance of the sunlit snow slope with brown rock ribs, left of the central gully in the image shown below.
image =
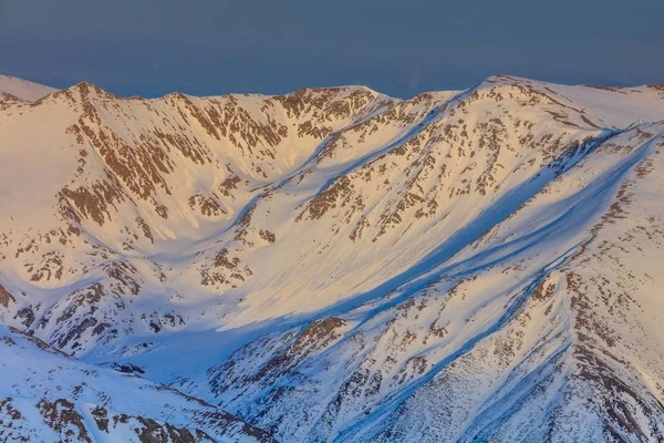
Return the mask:
M228 230L335 127L390 103L364 87L120 100L82 83L11 106L0 121L0 284L12 293L3 321L72 352L103 332L177 328L186 319L173 305L217 298L251 272L201 270L197 295L183 297L187 286L169 280L195 266L199 244ZM149 298L165 300L121 312Z

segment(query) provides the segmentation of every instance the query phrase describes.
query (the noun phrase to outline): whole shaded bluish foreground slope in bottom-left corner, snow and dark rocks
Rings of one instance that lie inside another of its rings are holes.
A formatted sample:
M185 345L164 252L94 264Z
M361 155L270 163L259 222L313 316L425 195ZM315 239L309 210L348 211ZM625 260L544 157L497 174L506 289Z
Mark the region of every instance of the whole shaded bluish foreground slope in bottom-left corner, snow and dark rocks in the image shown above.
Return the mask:
M7 327L0 327L0 368L3 442L272 441L198 399L83 363Z

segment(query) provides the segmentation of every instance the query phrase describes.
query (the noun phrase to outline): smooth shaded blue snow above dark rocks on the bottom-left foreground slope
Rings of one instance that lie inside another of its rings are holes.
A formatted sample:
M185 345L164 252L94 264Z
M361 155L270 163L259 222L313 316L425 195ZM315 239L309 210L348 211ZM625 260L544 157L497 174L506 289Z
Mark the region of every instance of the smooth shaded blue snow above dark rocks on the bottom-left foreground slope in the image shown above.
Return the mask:
M0 327L0 398L23 415L27 426L33 427L32 433L25 435L30 440L59 441L65 435L60 433L60 429L69 425L79 435L86 432L96 442L142 441L136 431L117 424L117 416L126 414L168 422L191 431L200 426L219 442L258 441L246 433L245 423L231 416L227 416L226 422L219 421L216 426L212 423L197 424L206 413L219 410L196 399L186 398L134 374L91 365L42 348L43 344L29 337ZM59 418L49 424L49 413L40 404L58 404L59 401L75 405L75 413L84 418L84 431L76 429L75 422L66 418ZM108 413L107 429L102 429L91 416L95 408L103 408ZM21 434L12 434L11 427L3 429L4 434L0 436L19 440ZM14 423L13 427L20 430L20 422Z

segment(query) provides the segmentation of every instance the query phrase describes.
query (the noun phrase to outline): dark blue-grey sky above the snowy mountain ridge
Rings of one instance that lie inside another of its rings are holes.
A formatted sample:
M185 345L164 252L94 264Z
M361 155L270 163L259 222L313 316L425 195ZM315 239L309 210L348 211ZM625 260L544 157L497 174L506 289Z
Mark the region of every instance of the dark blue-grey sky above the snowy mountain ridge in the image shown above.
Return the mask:
M145 96L664 83L664 0L0 0L0 73Z

